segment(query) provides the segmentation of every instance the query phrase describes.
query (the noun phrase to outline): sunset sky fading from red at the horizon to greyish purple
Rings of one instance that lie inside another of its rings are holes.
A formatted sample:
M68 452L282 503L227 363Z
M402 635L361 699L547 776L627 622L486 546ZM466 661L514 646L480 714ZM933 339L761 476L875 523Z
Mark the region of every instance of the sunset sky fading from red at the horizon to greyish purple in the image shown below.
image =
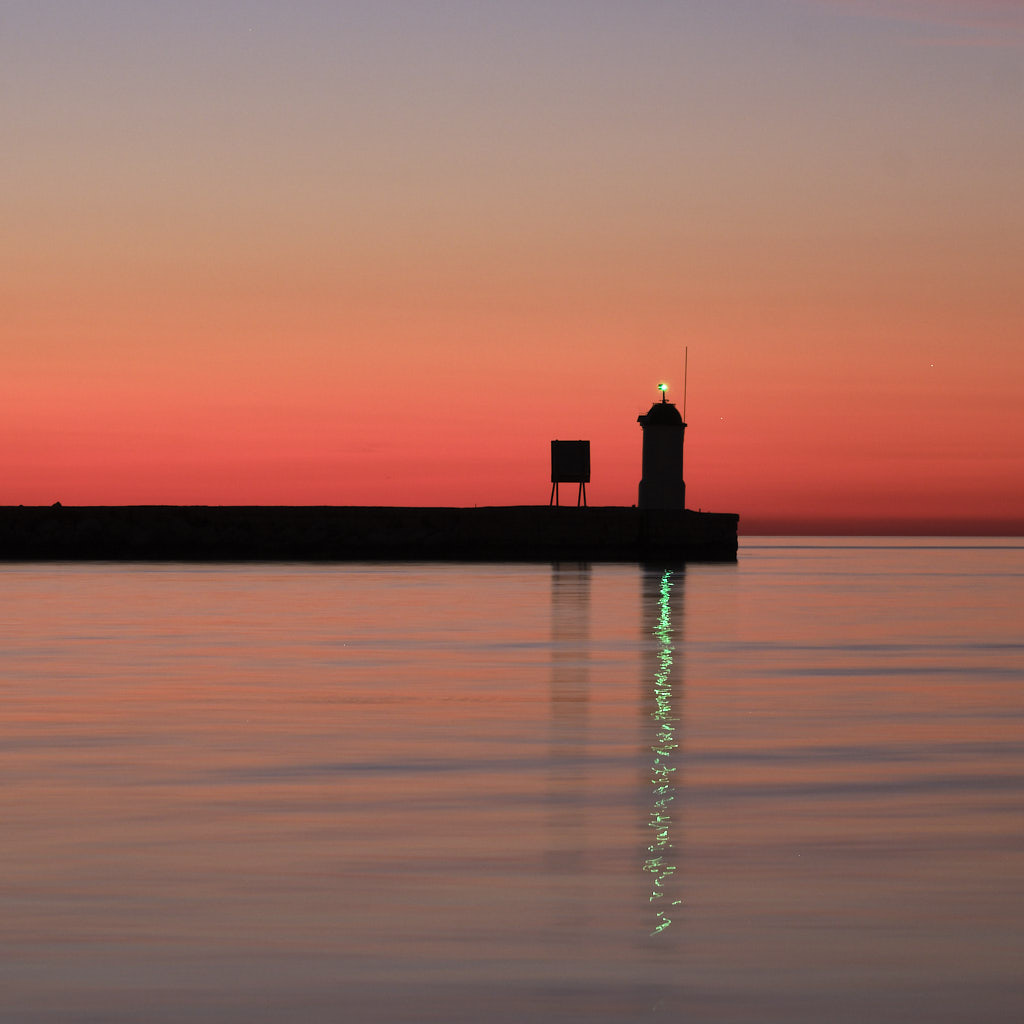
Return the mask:
M1024 532L1024 4L0 0L0 504ZM688 353L688 354L687 354Z

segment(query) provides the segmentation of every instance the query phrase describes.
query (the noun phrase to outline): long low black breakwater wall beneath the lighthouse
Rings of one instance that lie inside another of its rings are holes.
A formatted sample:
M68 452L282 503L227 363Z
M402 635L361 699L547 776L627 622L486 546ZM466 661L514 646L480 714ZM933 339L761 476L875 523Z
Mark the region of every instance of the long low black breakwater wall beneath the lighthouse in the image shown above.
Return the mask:
M732 560L738 519L620 506L7 506L0 559Z

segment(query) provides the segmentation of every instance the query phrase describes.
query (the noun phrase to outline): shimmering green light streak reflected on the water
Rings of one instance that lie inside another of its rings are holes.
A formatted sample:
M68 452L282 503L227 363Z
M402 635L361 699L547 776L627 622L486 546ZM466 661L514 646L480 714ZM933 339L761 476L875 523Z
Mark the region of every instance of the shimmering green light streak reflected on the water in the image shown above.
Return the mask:
M658 593L658 617L654 626L654 636L657 639L657 667L654 672L654 710L651 718L657 723L657 731L651 752L654 760L651 765L651 792L654 802L651 806L647 826L653 830L653 840L647 847L650 856L644 861L643 869L653 876L650 902L654 904L654 930L651 935L664 932L671 924L669 911L678 906L682 900L669 900L666 887L676 870L670 863L672 856L672 815L669 805L675 799L676 787L673 784L672 752L676 750L676 726L672 715L672 613L669 598L672 594L672 570L662 577Z

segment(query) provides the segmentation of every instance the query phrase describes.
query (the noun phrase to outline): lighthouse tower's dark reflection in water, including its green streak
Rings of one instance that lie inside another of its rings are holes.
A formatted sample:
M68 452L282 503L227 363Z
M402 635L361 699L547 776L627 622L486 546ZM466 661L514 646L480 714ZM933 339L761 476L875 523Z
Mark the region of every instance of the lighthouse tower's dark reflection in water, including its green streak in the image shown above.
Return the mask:
M679 715L676 712L676 694L680 682L678 670L673 678L673 656L676 638L681 634L681 609L673 607L682 598L682 568L644 570L644 624L653 638L653 658L645 679L650 680L651 698L644 701L653 722L650 735L651 794L647 819L650 844L643 869L650 878L649 900L654 910L651 935L658 935L672 925L673 907L682 903L674 898L677 887L673 884L676 863L673 854L672 805L676 799L676 751L679 749Z

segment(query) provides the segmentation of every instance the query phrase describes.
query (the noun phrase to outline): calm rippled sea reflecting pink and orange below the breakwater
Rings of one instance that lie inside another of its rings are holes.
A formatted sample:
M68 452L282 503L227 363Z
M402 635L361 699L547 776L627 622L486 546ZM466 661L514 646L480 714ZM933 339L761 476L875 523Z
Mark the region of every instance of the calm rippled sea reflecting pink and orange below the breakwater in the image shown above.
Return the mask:
M1024 1019L1024 542L0 584L4 1022Z

